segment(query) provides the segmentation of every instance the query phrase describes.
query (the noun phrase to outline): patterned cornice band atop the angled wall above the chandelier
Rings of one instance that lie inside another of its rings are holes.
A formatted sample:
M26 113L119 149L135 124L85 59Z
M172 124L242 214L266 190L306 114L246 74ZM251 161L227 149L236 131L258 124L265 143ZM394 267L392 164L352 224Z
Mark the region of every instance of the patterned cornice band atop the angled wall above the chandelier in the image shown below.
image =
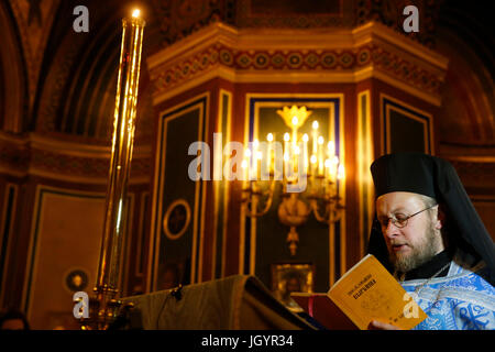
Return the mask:
M253 32L213 24L156 53L147 64L155 103L163 95L216 72L234 81L266 81L276 76L279 81L355 82L386 76L439 105L447 58L413 41L404 42L407 38L373 22L339 32Z

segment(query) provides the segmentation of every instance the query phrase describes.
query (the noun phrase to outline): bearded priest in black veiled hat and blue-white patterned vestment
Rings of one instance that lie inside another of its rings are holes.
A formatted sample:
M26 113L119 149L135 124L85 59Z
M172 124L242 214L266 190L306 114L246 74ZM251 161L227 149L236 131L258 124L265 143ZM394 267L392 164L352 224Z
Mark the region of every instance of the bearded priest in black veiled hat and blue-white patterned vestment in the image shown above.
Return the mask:
M428 318L419 330L495 329L495 248L452 165L400 153L371 166L375 255ZM395 329L373 321L371 329Z

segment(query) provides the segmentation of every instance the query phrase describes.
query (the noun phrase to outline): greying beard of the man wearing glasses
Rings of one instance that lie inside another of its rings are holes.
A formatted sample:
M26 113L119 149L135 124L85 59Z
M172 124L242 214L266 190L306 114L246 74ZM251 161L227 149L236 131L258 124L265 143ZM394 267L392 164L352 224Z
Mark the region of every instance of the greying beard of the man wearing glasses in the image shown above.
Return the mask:
M425 238L420 243L415 245L407 243L411 251L406 255L402 253L395 253L392 249L388 250L391 263L395 270L400 273L407 273L416 267L430 261L438 252L438 238L433 223L430 222Z

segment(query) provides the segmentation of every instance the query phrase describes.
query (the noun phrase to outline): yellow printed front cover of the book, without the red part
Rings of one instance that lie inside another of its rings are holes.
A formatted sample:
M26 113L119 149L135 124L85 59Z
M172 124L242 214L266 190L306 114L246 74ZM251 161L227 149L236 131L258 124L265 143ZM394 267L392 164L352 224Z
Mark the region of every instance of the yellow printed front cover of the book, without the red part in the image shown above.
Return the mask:
M361 330L372 320L409 330L428 317L372 254L348 271L327 295Z

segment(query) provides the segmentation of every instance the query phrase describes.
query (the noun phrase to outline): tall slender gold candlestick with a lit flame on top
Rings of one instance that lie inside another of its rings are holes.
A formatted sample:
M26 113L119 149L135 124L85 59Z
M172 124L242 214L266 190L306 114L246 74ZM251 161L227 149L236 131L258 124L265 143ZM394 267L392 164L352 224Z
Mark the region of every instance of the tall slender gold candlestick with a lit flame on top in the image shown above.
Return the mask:
M122 44L117 81L116 110L113 116L112 153L106 199L106 215L101 252L98 267L97 329L111 322L114 305L109 305L119 293L120 260L124 237L127 185L130 176L134 142L134 122L138 105L141 51L145 21L135 10L131 18L122 20ZM95 319L96 317L94 317Z

